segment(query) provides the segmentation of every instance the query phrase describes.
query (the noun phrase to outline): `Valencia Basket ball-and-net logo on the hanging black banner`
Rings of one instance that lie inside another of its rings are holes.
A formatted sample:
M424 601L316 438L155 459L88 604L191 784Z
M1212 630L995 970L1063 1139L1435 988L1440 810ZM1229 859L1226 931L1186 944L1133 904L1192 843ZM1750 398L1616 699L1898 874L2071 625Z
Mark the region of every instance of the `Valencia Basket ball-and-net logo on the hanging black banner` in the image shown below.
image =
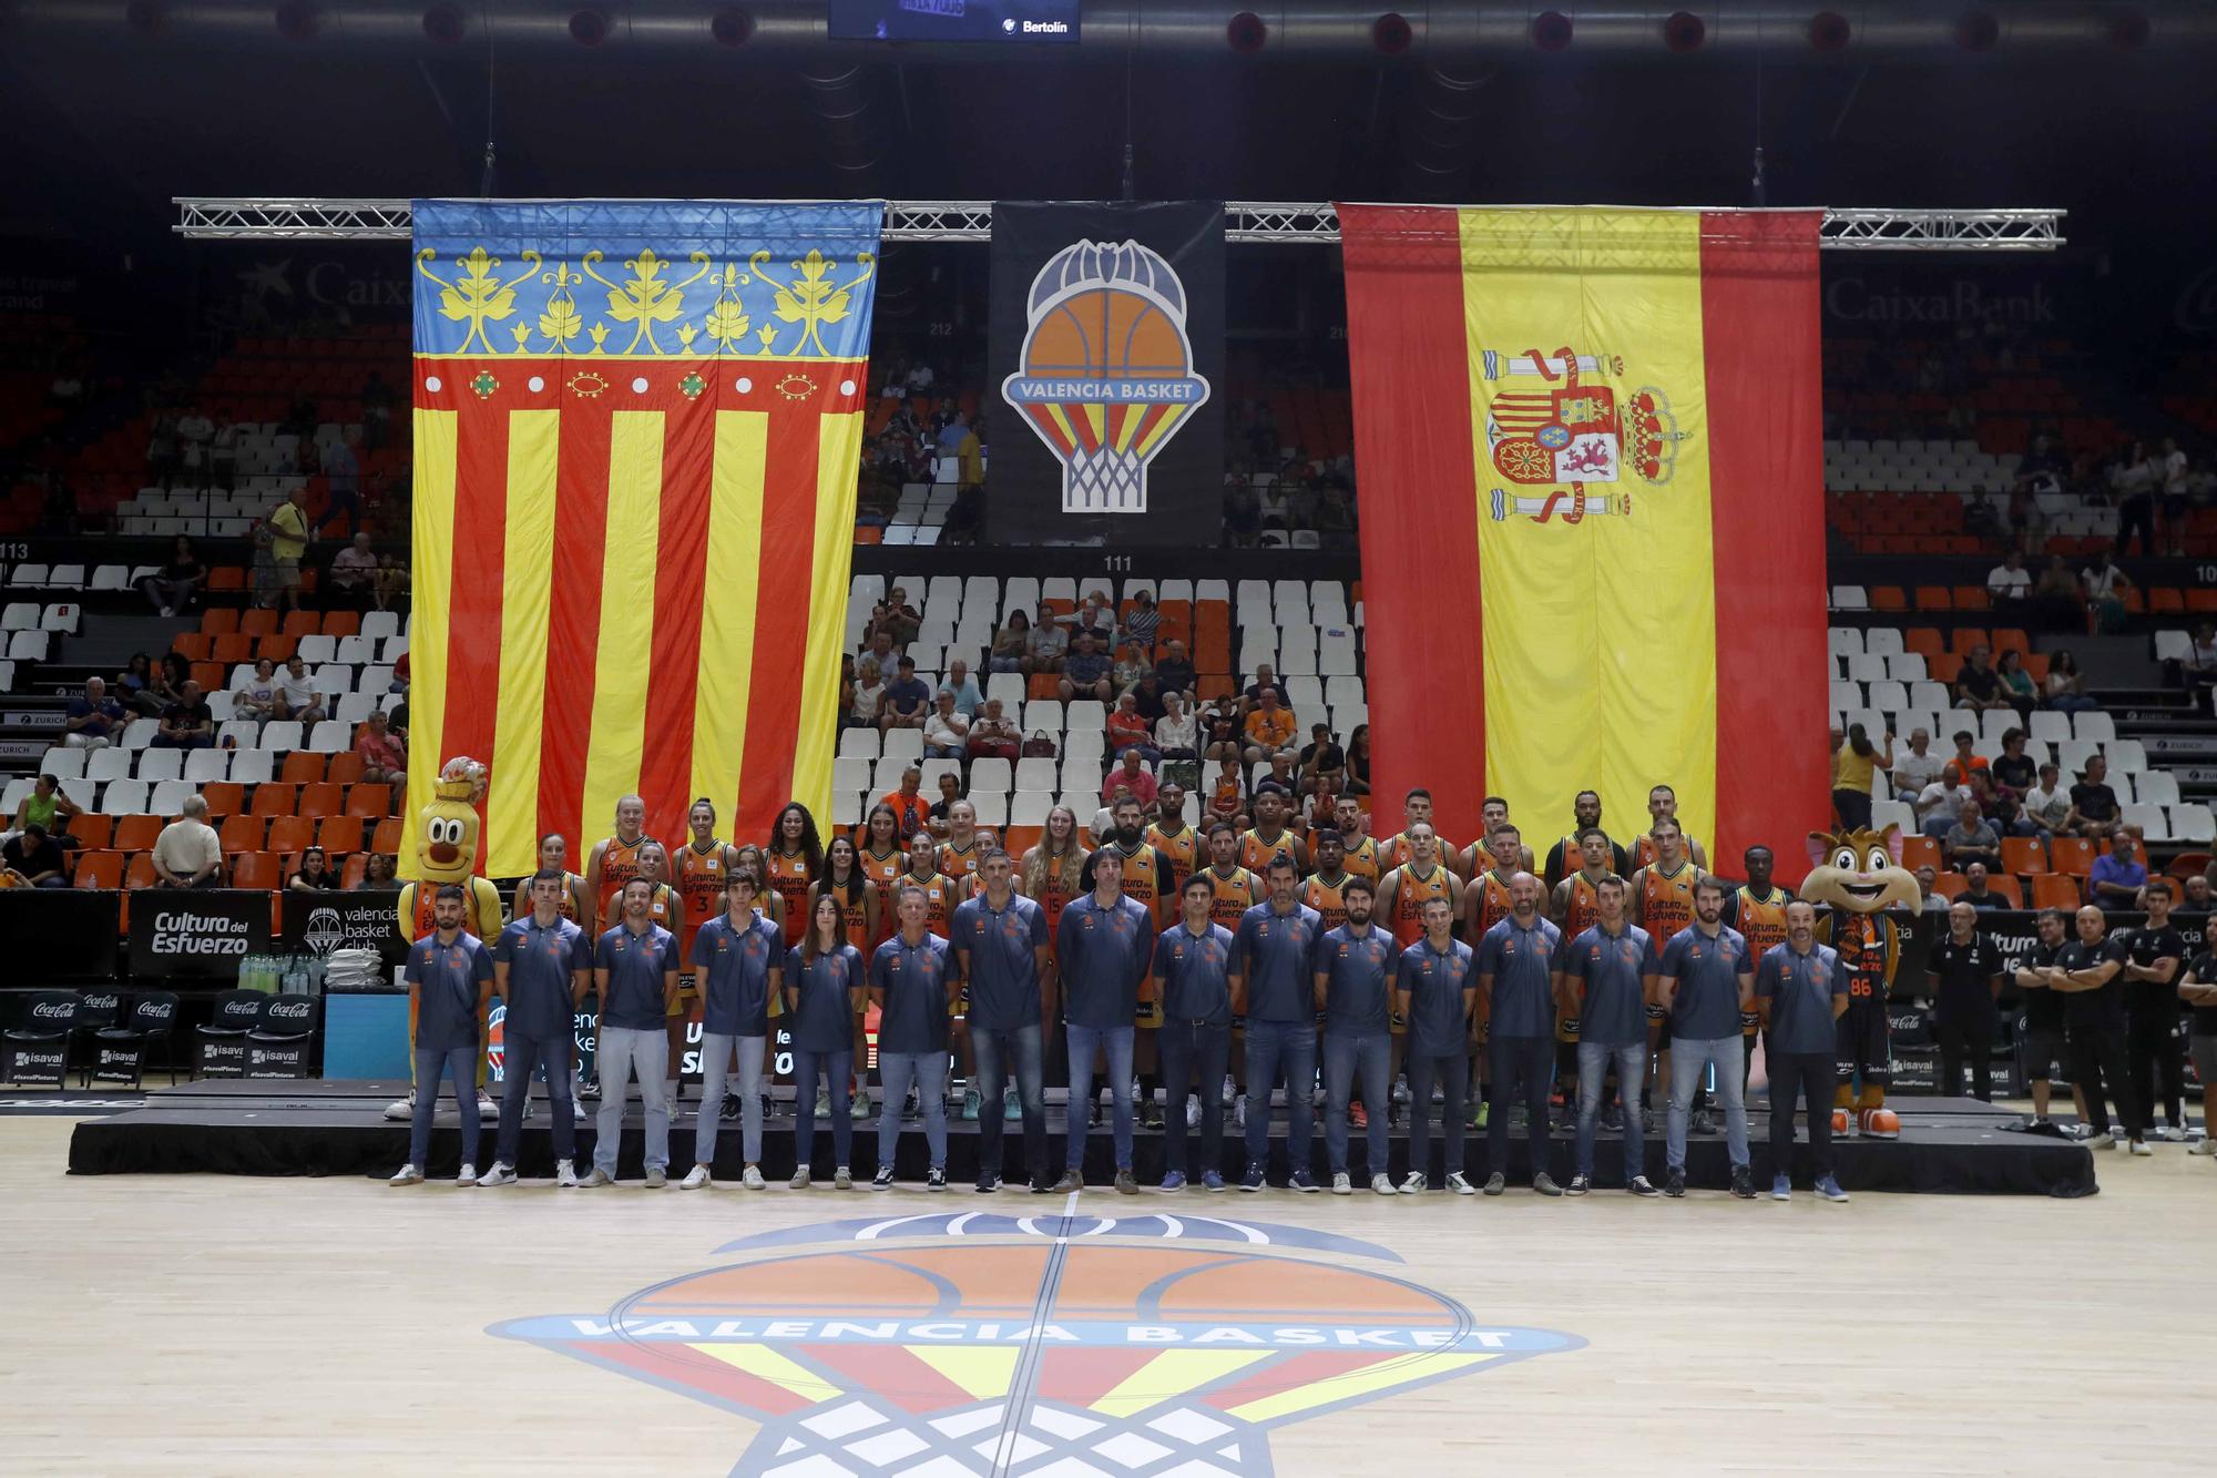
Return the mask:
M1024 315L1000 395L1062 462L1062 510L1146 513L1146 464L1208 402L1186 284L1140 242L1071 242L1031 280Z

